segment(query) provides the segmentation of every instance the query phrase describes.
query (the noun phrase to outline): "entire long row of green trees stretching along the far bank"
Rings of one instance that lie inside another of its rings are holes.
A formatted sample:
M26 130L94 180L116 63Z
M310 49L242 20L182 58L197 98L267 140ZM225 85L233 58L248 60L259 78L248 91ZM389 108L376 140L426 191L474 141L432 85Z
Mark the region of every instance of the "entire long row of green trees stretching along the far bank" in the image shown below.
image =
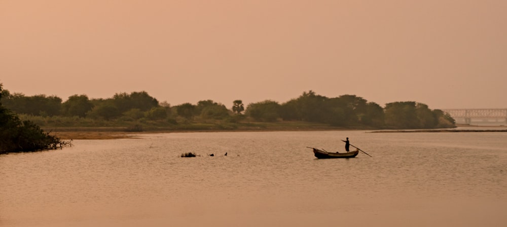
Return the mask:
M117 93L111 98L89 99L73 95L66 101L57 96L2 91L5 107L18 114L42 117L75 117L104 121L167 121L173 124L199 121L303 121L337 127L378 129L450 128L455 121L439 109L414 101L387 103L385 107L355 95L325 97L313 91L303 92L284 103L272 100L249 103L233 102L232 109L212 100L171 106L160 103L146 91Z

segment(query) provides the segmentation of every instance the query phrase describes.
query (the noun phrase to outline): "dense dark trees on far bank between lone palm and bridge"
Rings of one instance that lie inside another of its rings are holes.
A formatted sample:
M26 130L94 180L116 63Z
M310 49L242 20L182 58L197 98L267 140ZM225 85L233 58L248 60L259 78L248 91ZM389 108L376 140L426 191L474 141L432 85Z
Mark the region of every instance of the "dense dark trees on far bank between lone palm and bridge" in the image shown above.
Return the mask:
M454 127L455 120L439 109L414 101L391 102L384 108L355 95L328 98L313 91L279 104L266 100L248 104L246 115L257 121L306 121L331 126L370 126L379 129Z

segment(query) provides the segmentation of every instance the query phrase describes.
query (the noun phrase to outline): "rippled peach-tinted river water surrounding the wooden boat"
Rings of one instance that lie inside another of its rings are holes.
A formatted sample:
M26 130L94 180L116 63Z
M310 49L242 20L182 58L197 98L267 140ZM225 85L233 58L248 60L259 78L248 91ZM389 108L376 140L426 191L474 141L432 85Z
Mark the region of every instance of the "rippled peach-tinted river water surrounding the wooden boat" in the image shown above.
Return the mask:
M345 137L373 158L317 160L306 148L343 150ZM73 144L0 156L0 226L507 226L503 132L168 133Z

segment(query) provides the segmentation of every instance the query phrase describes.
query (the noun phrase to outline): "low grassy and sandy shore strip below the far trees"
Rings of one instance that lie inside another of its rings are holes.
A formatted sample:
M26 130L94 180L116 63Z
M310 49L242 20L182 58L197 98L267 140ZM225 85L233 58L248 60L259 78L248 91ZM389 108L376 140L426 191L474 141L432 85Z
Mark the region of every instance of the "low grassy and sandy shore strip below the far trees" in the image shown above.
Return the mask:
M41 128L61 139L118 139L132 138L142 133L170 132L231 132L231 131L325 131L325 130L380 130L364 125L348 127L330 126L328 124L302 121L254 122L248 118L237 121L186 119L164 121L103 121L77 117L37 117L22 116L40 125ZM447 132L454 130L440 130ZM374 132L414 132L407 131L374 131ZM417 130L416 132L439 132L439 130Z

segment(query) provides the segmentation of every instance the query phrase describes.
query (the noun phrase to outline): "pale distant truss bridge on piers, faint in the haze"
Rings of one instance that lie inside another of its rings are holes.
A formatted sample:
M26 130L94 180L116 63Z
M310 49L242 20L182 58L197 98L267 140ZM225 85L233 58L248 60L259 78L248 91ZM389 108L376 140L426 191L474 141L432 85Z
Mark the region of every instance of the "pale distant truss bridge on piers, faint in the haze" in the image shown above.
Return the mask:
M449 113L456 123L471 124L472 120L479 120L481 123L507 124L507 108L505 109L441 109ZM476 121L477 122L477 121Z

